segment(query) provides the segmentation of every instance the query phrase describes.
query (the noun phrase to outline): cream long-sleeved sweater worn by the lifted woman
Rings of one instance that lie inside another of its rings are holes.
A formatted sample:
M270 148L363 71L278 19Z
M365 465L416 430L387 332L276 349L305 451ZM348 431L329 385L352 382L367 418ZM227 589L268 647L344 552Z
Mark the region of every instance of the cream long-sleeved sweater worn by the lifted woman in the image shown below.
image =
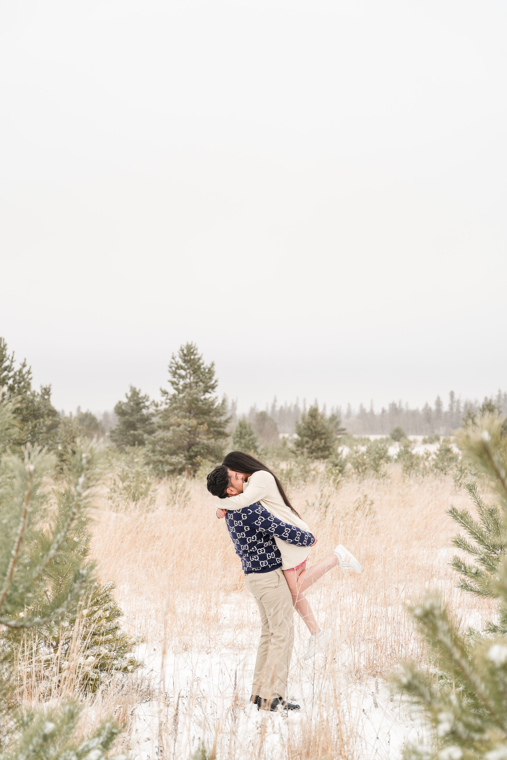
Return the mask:
M306 522L294 515L287 504L284 504L284 499L280 496L274 477L264 470L253 473L243 486L243 492L239 493L238 496L229 496L223 508L227 511L236 511L249 507L255 502L261 502L261 505L271 512L271 515L284 523L295 525L311 533ZM287 543L287 541L276 537L274 540L277 542L282 556L282 570L296 567L308 556L308 546L294 546L293 543Z

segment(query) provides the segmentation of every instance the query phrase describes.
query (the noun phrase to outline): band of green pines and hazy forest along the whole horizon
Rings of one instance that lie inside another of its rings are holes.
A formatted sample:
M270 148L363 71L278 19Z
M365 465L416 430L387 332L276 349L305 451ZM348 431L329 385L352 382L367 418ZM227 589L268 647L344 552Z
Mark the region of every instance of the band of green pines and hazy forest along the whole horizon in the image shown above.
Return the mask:
M399 441L405 435L447 435L479 411L507 414L505 391L486 397L482 404L462 402L451 391L447 407L437 397L433 407L424 404L421 410L410 409L408 404L393 401L379 413L373 405L367 411L363 404L357 413L350 404L344 414L341 407L328 411L325 404L319 409L316 400L308 408L304 400L302 406L299 400L279 405L275 397L271 407L258 410L253 406L239 419L237 402L218 397L214 363L204 363L195 344L180 346L171 355L168 371L169 387L160 388L157 401L130 385L125 400L118 401L114 411L103 413L100 420L80 407L75 416L66 416L52 405L51 385L41 385L40 391L33 388L26 359L15 361L14 352L0 337L0 405L14 420L4 448L24 456L28 444L42 445L55 454L63 472L79 439L107 435L119 451L142 447L144 463L157 477L175 473L195 477L199 470L221 461L231 445L252 453L263 447L287 453L288 443L295 455L328 460L344 432L391 435ZM280 435L293 433L295 439L280 447Z

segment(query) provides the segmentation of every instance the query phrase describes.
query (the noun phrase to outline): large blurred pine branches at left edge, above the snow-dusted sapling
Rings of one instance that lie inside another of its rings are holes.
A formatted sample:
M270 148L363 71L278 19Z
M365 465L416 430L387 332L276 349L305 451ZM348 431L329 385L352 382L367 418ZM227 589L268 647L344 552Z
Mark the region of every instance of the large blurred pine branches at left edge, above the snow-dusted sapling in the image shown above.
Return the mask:
M13 454L2 458L0 477L0 624L8 629L27 629L60 619L84 590L90 568L70 551L66 541L87 507L96 469L90 464L93 452L81 451L74 461L70 497L59 512L59 529L43 531L40 523L47 505L43 477L55 466L51 454L28 444L24 459ZM40 594L54 565L68 570L51 595Z

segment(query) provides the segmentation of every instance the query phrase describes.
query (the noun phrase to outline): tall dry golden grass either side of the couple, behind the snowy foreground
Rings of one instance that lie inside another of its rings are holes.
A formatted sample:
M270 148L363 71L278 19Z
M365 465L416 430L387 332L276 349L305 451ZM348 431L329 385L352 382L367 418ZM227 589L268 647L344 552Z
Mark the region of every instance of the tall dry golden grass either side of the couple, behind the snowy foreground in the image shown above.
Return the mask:
M191 650L197 641L210 650L241 649L252 638L246 625L252 603L225 521L214 517L218 502L201 483L190 482L189 504L168 508L166 488L160 486L153 511L100 508L92 553L101 580L115 581L129 632L151 643L170 642L175 651ZM316 505L321 494L321 502L330 502L326 514ZM354 504L365 494L373 501L368 515ZM404 482L395 470L390 480L349 481L338 490L307 484L291 498L318 535L312 562L341 541L365 567L360 578L330 572L309 591L324 622L337 611L349 620L341 636L352 648L356 676L382 676L400 657L417 657L403 604L431 587L461 606L448 567L456 531L445 509L451 502L470 506L466 494L455 491L451 478ZM222 607L231 599L234 614L224 632Z

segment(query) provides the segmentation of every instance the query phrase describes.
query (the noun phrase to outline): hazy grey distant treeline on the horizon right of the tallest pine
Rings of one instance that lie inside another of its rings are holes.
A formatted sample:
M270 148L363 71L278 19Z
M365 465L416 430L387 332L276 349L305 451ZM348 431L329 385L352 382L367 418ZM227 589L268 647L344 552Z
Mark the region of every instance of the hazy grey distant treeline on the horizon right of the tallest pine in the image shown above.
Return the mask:
M370 405L369 410L363 404L360 404L359 410L353 410L348 404L345 412L342 407L332 407L329 410L329 416L336 415L339 420L342 420L347 432L353 435L389 435L391 430L398 426L403 428L407 435L431 435L432 433L448 435L461 426L464 416L468 413L476 413L484 404L494 405L502 414L507 414L507 392L499 390L496 396L484 397L484 401L480 402L477 399L461 401L456 397L455 392L451 391L447 405L440 396L437 396L433 407L426 402L422 409L410 409L409 405L403 404L402 401L398 403L392 401L387 409L382 407L380 412L375 412L373 404ZM323 408L326 411L325 405ZM231 404L230 410L233 424L235 424L240 416L236 412L235 402ZM261 418L265 419L269 416L276 423L278 432L292 434L295 423L301 420L302 413L306 413L306 401L303 401L302 406L299 406L299 400L296 400L295 404L286 402L280 406L277 404L277 398L274 397L271 407L266 405L265 410L260 412L255 405L250 407L245 416L254 426L256 424L258 426ZM328 416L327 413L326 416Z

